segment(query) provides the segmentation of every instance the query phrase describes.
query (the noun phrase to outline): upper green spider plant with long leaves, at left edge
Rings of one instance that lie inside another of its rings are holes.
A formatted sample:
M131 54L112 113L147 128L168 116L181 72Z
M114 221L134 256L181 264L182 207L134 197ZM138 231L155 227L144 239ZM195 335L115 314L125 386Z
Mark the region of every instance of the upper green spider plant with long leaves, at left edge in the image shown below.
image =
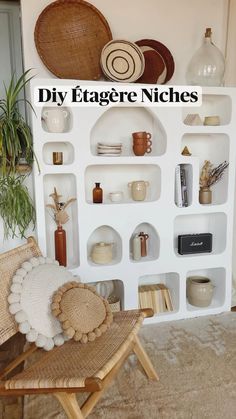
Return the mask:
M27 78L29 71L31 70L25 71L16 81L13 75L9 86L5 86L5 98L0 99L0 167L3 176L16 172L21 157L24 157L29 165L32 165L35 157L30 127L19 111L21 101L33 110L27 99L19 99L19 93L24 91L26 84L33 77ZM37 162L37 159L35 160Z

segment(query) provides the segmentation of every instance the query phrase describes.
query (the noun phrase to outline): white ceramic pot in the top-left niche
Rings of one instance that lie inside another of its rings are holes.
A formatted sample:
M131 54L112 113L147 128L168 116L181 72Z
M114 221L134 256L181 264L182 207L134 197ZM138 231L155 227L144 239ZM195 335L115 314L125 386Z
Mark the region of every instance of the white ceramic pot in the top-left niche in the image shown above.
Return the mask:
M49 132L64 132L68 116L69 112L64 109L47 109L42 112L42 118Z

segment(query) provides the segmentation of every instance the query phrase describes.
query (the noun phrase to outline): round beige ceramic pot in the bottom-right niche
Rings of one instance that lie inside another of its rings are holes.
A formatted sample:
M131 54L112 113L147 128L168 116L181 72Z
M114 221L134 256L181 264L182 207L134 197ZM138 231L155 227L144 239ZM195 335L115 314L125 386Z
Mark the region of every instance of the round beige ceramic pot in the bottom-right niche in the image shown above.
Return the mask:
M187 279L188 302L197 307L208 307L213 297L214 286L205 276L191 276Z

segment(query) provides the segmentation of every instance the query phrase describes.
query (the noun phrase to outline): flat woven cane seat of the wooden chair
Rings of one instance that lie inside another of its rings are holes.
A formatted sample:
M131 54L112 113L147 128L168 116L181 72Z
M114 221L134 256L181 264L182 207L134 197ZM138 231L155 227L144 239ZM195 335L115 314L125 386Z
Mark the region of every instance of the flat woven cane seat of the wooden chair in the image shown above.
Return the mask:
M102 380L126 352L143 319L140 310L114 313L111 327L94 342L83 345L71 339L53 351L39 354L40 359L7 380L5 388L81 388L87 377Z

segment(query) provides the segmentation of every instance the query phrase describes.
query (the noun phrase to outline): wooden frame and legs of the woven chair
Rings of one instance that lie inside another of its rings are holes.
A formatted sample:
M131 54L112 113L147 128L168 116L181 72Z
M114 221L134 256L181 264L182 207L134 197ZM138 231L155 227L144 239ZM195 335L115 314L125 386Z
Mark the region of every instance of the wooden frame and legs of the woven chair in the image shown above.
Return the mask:
M31 257L40 255L40 250L37 247L37 244L35 240L30 237L28 239L27 245L23 245L17 248L18 252L21 252L20 259L18 261L18 266L20 264L28 259L29 257L29 249L32 250ZM26 252L27 251L27 252ZM12 251L8 251L4 253L3 255L0 255L0 261L1 258L4 256L11 257L11 255L14 254L14 249ZM21 263L20 263L21 262ZM17 267L18 267L17 266ZM0 267L1 271L1 267ZM0 301L1 303L1 301ZM150 317L153 315L152 310L146 309L146 310L140 310L144 314L144 317ZM1 312L1 309L0 309ZM0 326L1 325L0 320ZM12 319L11 319L12 323ZM8 327L8 335L3 336L1 339L0 335L0 343L3 343L4 341L8 340L10 336L15 334L17 332L16 324L13 324L12 330L9 333L9 327ZM9 336L10 335L10 336ZM110 370L110 372L101 380L97 377L88 377L85 380L85 386L84 387L70 387L70 388L29 388L29 389L6 389L4 386L4 379L7 377L7 375L12 372L18 365L20 365L22 362L24 362L26 359L28 359L38 348L35 346L35 344L31 344L30 347L20 354L14 361L12 361L8 366L6 366L3 371L0 372L0 395L1 396L24 396L26 394L53 394L57 400L60 402L62 408L64 409L66 415L70 419L82 419L86 418L94 408L94 406L97 404L101 396L103 395L106 388L109 386L109 384L112 382L118 371L120 370L121 366L125 362L126 358L133 352L136 354L138 360L140 361L144 371L146 372L148 378L152 380L158 380L158 375L156 371L154 370L154 367L146 354L144 348L142 347L139 338L137 335L133 336L132 340L129 342L129 344L126 346L125 350L113 366L113 368ZM91 393L86 401L83 403L82 406L79 406L77 399L76 399L76 393L79 392L88 392Z

